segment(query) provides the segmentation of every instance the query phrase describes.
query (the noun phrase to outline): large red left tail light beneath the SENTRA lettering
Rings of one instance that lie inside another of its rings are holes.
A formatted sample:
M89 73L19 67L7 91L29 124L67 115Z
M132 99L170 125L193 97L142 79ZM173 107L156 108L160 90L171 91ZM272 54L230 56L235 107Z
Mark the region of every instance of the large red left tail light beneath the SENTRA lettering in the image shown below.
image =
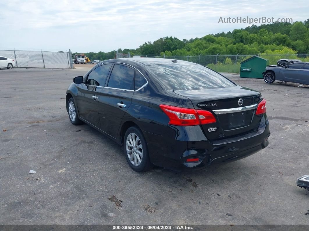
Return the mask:
M170 122L168 124L177 126L193 126L215 123L216 118L210 111L195 110L190 108L175 107L170 105L159 105L167 114Z

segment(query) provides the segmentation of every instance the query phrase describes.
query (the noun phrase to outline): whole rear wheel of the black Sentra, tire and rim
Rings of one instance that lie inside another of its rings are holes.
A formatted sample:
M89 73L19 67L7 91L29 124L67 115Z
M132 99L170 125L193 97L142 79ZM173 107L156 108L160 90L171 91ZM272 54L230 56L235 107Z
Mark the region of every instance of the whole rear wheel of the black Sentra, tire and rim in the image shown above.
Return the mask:
M148 171L153 167L150 162L146 140L137 126L129 127L125 132L123 149L125 158L134 171Z

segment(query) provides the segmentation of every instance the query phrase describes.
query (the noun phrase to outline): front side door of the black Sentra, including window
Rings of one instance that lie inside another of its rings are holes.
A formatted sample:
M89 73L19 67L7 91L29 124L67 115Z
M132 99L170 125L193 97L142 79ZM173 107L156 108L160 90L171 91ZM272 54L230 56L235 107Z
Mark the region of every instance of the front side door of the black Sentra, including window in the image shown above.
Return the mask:
M100 65L87 74L77 95L77 108L80 118L97 128L100 127L98 102L112 64Z

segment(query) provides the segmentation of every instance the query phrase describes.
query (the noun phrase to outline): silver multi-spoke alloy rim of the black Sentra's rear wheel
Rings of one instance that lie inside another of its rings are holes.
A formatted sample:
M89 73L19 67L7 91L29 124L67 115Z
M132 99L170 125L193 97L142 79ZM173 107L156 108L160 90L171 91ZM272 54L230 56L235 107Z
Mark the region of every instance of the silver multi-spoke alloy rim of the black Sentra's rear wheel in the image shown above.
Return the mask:
M129 161L134 166L139 166L143 159L143 146L138 135L133 132L130 133L127 136L125 147Z

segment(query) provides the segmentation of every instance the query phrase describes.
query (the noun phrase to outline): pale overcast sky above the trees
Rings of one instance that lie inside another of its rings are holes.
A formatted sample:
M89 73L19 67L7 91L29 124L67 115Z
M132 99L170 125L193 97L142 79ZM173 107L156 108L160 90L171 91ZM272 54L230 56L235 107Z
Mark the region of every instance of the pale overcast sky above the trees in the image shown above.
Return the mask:
M200 38L250 26L218 23L220 17L304 21L309 1L0 0L0 10L0 50L109 52L165 36Z

